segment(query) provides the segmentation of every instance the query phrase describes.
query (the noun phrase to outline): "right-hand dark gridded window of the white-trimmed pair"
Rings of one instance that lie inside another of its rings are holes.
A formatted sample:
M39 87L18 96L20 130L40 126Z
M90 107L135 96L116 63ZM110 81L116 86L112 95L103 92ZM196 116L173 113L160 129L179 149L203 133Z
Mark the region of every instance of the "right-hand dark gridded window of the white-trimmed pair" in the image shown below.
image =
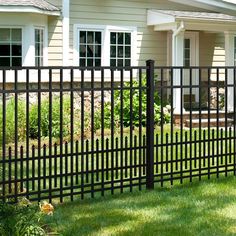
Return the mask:
M110 66L130 66L131 33L110 33Z

